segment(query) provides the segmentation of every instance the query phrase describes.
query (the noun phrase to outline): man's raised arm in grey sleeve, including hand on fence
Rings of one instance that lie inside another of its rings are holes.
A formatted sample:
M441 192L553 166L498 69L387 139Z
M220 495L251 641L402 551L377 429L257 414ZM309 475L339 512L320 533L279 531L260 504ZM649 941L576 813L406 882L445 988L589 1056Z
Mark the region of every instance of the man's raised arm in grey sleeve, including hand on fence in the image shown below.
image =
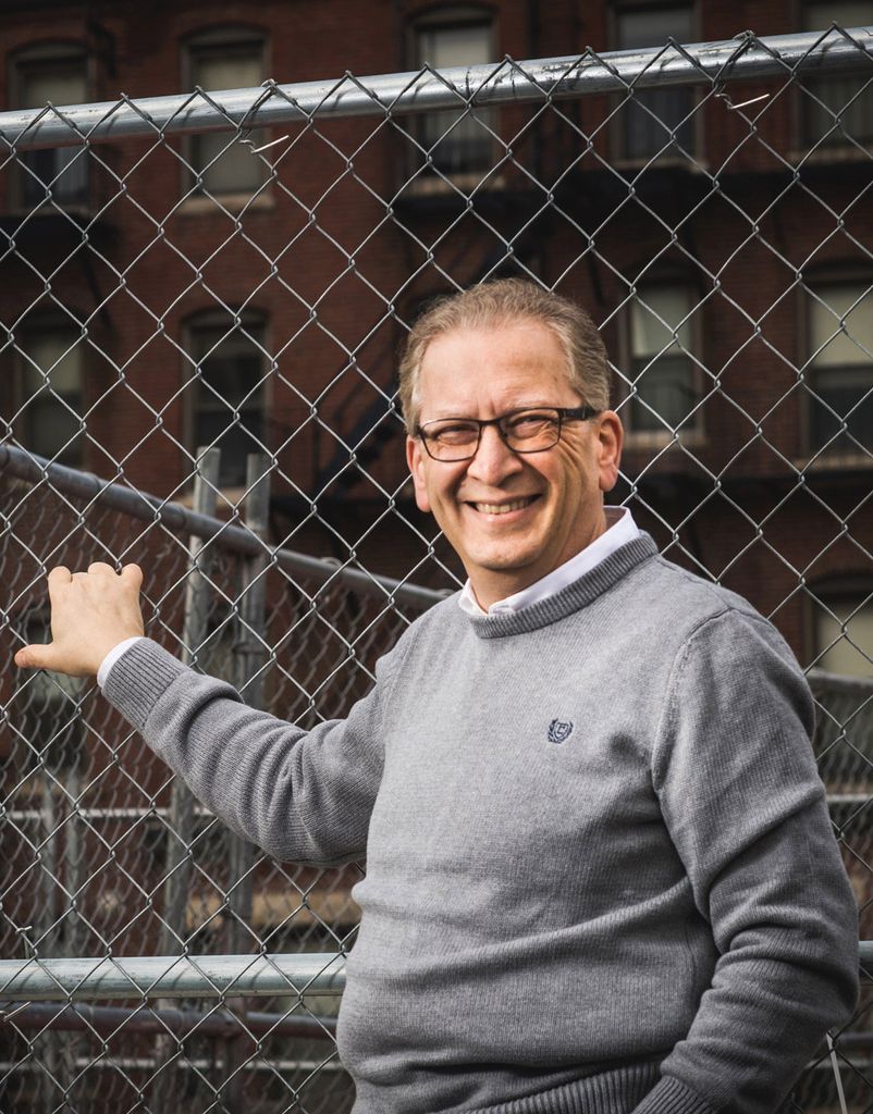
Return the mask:
M143 634L140 583L136 566L52 569L52 642L20 649L17 664L96 674L114 646ZM379 685L347 720L304 732L142 638L113 665L104 695L198 800L275 858L327 866L363 852L381 778Z

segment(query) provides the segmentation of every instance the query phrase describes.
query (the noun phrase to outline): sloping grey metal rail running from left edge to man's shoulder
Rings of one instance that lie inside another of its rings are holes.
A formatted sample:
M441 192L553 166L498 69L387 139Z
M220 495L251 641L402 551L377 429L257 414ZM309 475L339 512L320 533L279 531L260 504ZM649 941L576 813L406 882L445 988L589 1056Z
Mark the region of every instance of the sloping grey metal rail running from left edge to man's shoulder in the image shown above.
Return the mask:
M0 470L3 469L30 483L48 483L65 495L89 499L100 507L109 507L140 521L161 522L177 534L193 534L204 541L214 543L219 549L246 557L266 553L270 560L275 561L280 568L312 585L339 582L359 596L370 596L380 603L396 600L419 610L431 607L448 595L416 584L404 584L392 577L342 567L332 560L321 560L293 549L272 549L245 525L237 526L208 515L200 515L177 502L169 502L147 491L104 480L65 465L52 463L11 444L0 444Z

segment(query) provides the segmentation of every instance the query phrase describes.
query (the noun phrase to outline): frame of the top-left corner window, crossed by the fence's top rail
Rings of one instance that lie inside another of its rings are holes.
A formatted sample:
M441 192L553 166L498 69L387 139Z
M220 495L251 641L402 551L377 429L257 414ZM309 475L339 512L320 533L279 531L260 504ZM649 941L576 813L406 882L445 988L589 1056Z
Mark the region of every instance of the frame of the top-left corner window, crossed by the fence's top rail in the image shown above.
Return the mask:
M25 87L26 87L26 74L28 70L49 69L52 63L57 63L58 67L64 66L66 68L80 69L83 78L83 91L84 98L81 104L87 104L93 99L94 88L95 88L95 63L94 57L88 50L86 43L77 41L75 39L46 39L41 42L33 42L26 45L14 51L12 51L7 59L7 96L9 98L10 108L18 108L22 111L27 111L25 106ZM25 150L21 152L18 158L21 162L27 162L28 158L40 158L47 153L56 157L56 170L55 177L62 173L62 168L58 168L58 163L64 158L67 152L78 152L76 147L56 147L46 150ZM71 157L69 164L74 162ZM84 185L80 187L78 194L69 199L62 196L54 196L51 198L45 198L38 201L36 198L30 199L28 197L28 185L32 183L31 176L23 169L20 163L16 164L13 167L14 173L9 175L9 207L12 213L32 213L32 212L46 212L59 208L65 213L79 213L81 215L88 215L91 212L91 185L93 175L89 173L90 167L88 165L87 152L78 155L75 158L76 164L81 164L84 168Z

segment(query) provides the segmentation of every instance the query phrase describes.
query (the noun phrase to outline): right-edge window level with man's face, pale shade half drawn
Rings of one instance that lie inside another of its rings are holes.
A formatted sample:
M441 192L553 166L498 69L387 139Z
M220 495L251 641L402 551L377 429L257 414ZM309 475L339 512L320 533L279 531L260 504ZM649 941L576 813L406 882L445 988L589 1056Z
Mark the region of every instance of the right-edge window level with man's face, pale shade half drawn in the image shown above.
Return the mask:
M873 289L852 282L811 290L807 328L812 448L873 451Z

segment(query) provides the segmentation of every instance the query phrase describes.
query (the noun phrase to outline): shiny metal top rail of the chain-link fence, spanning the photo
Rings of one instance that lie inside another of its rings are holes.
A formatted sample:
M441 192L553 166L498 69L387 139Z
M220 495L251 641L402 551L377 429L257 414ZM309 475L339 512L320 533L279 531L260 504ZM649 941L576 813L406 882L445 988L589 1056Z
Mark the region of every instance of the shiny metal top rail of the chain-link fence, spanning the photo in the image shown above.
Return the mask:
M0 140L18 150L108 143L135 136L232 131L237 127L303 124L313 116L384 116L388 111L425 113L453 108L475 97L476 105L542 101L598 92L622 92L630 85L651 88L711 85L822 71L870 72L873 29L776 35L756 39L738 36L719 42L693 42L681 50L588 52L581 58L504 60L486 66L458 66L439 72L413 71L378 77L338 78L254 89L143 97L136 100L71 105L54 110L0 113ZM210 102L211 101L211 102ZM215 107L213 107L215 106Z

